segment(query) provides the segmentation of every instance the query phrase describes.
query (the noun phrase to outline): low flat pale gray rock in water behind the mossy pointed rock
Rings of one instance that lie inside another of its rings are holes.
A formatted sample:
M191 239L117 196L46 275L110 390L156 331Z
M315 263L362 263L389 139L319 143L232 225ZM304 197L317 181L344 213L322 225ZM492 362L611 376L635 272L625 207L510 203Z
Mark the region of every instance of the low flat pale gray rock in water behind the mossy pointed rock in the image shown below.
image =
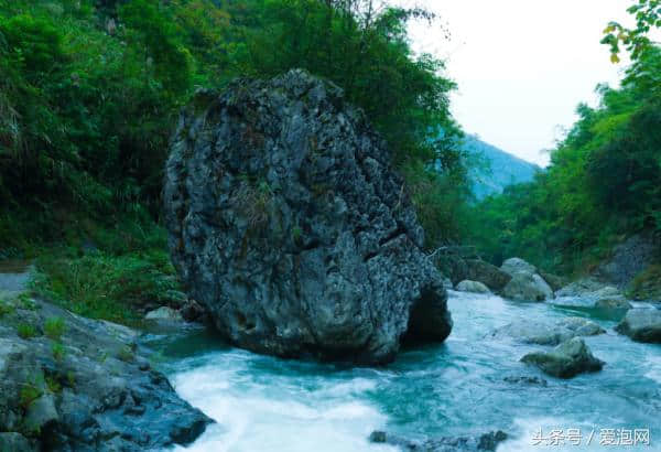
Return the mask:
M583 318L566 318L557 322L519 321L496 330L491 337L511 337L524 344L557 345L577 336L594 336L606 331Z

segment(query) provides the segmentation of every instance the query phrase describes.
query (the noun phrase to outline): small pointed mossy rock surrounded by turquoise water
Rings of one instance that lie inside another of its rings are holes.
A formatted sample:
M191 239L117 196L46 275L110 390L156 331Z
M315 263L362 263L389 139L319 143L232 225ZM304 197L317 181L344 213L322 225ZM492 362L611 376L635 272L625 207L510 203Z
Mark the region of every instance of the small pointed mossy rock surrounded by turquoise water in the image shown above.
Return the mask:
M534 365L557 378L572 378L582 373L598 372L605 364L592 354L579 337L563 342L552 352L530 353L523 356L521 362Z

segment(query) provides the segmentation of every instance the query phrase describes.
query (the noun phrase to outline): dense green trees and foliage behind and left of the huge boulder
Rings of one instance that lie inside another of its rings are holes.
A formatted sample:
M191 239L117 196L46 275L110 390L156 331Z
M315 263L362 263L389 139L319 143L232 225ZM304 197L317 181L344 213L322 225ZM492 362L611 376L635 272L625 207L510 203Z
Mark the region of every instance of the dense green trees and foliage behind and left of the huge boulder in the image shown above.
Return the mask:
M62 238L53 226L72 215L158 218L167 139L194 90L291 67L345 88L424 192L422 217L443 217L434 240L456 238L454 84L411 51L411 19L433 18L366 0L0 0L0 252Z

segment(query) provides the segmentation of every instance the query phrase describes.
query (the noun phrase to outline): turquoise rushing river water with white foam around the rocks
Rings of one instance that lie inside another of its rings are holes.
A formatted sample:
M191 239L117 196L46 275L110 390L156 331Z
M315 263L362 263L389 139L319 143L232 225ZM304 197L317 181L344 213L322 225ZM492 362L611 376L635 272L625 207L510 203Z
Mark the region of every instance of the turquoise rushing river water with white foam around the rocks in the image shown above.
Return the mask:
M154 340L177 392L218 422L186 450L391 451L370 444L369 433L420 439L500 429L511 437L500 452L604 451L625 448L600 445L602 429L649 429L650 446L626 449L661 451L661 345L631 342L613 331L615 320L581 308L457 292L449 308L455 326L443 345L403 351L383 368L282 360L205 333ZM602 372L571 380L544 376L519 358L546 347L489 337L512 321L567 315L607 330L585 338L607 363ZM542 377L548 386L506 381L510 376ZM544 437L581 429L582 445L534 445L540 429Z

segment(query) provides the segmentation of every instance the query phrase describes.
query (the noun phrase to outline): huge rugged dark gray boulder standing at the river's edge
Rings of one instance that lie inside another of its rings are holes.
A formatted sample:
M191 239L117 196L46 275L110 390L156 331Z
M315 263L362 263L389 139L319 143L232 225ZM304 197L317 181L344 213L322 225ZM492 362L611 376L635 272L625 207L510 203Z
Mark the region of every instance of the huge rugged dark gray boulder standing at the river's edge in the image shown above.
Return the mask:
M443 280L390 160L342 89L303 71L198 93L172 141L165 223L228 341L372 364L445 340Z

